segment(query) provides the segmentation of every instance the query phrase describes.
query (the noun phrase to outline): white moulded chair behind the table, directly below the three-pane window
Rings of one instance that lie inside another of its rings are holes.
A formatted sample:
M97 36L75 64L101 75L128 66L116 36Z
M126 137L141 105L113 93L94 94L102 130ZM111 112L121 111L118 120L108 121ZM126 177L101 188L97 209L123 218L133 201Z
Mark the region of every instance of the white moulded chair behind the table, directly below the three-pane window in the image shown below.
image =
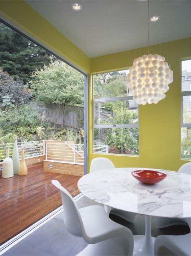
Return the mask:
M105 157L97 157L91 161L90 173L99 171L99 170L104 170L104 169L115 169L115 166L111 160ZM126 219L131 223L133 223L135 220L135 217L136 217L135 213L121 211L108 206L104 206L104 208L108 216L109 216L109 213L111 213L111 214L120 216L121 218Z

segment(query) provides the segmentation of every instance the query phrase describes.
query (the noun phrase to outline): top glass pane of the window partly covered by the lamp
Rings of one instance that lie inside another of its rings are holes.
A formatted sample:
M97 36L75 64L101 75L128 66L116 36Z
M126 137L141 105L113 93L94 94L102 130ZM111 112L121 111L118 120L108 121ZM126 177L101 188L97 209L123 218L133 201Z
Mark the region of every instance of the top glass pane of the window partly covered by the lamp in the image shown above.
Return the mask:
M129 70L94 75L94 99L127 96L126 77Z

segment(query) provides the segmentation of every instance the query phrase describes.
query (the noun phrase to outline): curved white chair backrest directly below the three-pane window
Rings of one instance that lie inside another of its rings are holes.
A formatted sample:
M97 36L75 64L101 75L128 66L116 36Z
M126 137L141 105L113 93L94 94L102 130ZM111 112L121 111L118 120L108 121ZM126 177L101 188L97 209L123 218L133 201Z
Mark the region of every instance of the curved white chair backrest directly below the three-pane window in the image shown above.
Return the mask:
M105 157L97 157L91 161L90 172L100 171L104 169L114 169L113 162Z

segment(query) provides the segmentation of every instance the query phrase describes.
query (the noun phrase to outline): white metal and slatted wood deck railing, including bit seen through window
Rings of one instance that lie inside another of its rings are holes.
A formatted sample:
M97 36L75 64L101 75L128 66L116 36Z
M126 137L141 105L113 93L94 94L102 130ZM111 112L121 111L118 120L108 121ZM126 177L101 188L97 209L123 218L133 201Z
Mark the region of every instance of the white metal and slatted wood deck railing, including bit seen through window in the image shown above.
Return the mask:
M9 146L10 157L13 156L14 143L0 144L0 162L6 157L6 146ZM25 158L45 156L46 161L84 164L84 145L73 141L26 141L18 142L19 158L21 148L25 149ZM108 153L108 145L94 145L95 153Z

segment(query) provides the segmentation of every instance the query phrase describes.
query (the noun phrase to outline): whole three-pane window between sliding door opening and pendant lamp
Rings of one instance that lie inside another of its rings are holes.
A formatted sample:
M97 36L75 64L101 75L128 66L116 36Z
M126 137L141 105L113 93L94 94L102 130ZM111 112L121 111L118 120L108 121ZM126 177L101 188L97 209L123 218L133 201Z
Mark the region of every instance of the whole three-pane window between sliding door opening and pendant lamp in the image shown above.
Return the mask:
M139 154L138 104L129 94L129 70L93 76L94 153Z

